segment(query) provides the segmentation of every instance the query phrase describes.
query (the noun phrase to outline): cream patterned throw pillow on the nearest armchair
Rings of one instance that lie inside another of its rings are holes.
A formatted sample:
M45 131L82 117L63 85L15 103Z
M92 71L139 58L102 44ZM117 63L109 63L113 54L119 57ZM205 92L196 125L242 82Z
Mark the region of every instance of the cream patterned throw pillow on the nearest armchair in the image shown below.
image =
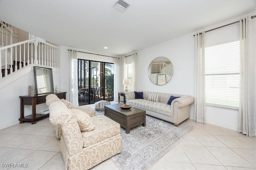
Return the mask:
M76 121L82 132L92 131L95 128L90 115L78 109L70 109L70 111L76 117Z

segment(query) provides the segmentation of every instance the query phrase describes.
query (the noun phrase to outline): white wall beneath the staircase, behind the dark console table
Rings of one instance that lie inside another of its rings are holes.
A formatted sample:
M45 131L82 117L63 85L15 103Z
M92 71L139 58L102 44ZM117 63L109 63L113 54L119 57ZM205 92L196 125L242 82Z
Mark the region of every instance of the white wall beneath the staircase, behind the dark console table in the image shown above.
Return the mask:
M28 95L28 86L35 85L34 70L31 64L22 68L16 75L12 75L7 80L9 83L1 82L0 89L0 129L18 124L20 118L20 98L19 96ZM22 76L19 76L22 75ZM58 68L52 68L54 87L58 86L60 71ZM36 111L48 108L46 104L36 105ZM24 106L24 116L32 113L31 106ZM31 122L29 122L31 123Z

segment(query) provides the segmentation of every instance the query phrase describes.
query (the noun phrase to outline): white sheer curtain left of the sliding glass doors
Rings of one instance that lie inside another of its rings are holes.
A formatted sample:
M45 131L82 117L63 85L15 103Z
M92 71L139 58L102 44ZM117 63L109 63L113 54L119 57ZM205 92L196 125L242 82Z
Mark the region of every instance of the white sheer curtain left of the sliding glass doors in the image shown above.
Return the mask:
M78 80L77 80L77 51L69 51L69 101L74 105L78 106Z

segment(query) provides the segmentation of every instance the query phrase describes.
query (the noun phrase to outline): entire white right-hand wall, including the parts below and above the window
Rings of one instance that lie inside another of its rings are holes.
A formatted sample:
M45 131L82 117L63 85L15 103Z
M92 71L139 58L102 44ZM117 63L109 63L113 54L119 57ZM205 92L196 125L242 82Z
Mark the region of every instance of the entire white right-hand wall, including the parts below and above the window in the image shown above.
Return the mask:
M204 30L210 30L238 20L239 18L233 18ZM190 33L138 51L138 90L187 94L194 97L194 34ZM166 57L170 59L174 66L172 79L163 86L154 85L148 78L148 66L156 57ZM193 119L193 117L194 104L190 109L190 119ZM206 123L237 131L238 119L237 110L206 106Z

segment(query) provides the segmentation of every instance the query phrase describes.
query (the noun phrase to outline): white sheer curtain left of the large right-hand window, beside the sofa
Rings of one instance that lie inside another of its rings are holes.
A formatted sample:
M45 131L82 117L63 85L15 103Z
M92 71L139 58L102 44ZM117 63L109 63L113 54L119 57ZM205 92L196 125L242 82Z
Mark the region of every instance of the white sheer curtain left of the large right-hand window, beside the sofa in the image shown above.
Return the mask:
M195 35L195 102L194 121L206 124L204 31Z

